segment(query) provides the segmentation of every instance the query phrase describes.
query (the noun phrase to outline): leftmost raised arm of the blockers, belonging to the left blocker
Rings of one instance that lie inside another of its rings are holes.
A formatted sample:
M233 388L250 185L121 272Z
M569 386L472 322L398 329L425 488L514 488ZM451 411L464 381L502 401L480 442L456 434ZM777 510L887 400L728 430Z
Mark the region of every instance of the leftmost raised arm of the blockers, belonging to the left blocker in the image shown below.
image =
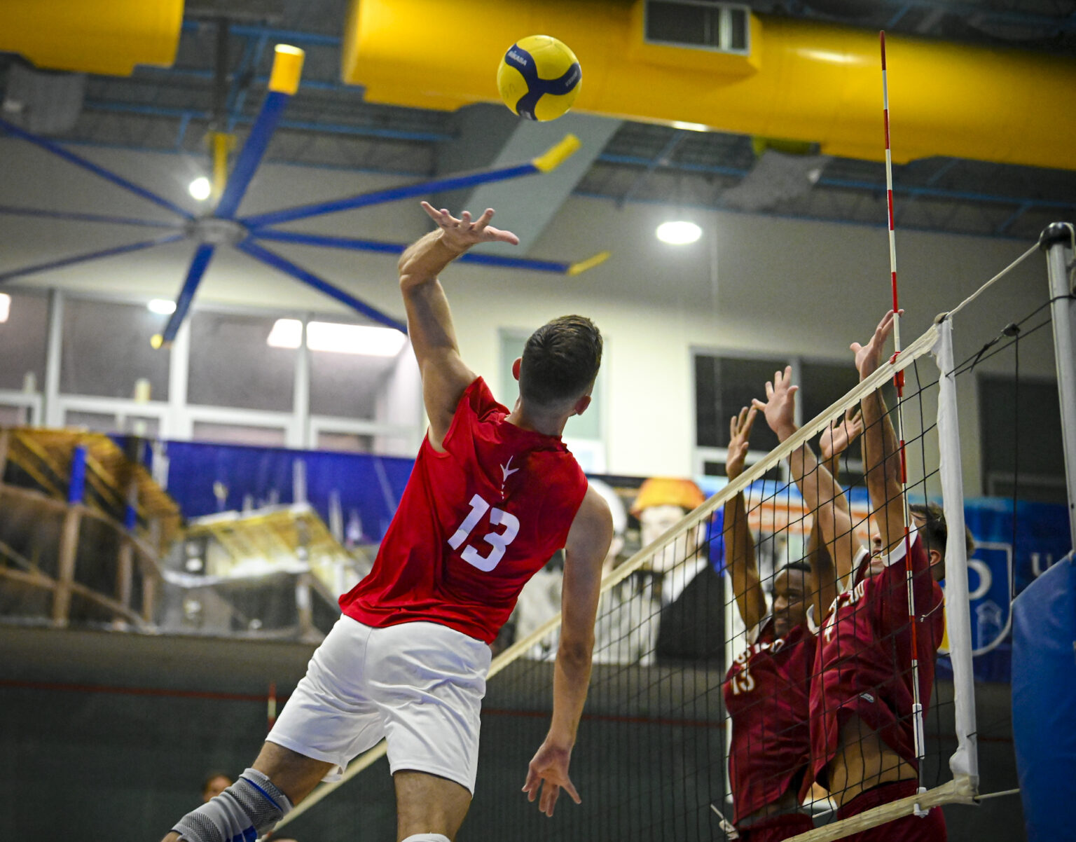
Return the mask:
M750 445L751 427L759 411L744 406L739 415L728 422L728 451L725 456L725 474L732 482L744 473L744 462ZM740 619L747 628L754 628L766 614L766 597L759 582L759 566L754 556L754 538L747 523L747 502L740 491L725 503L724 533L726 569L733 583L733 595Z

